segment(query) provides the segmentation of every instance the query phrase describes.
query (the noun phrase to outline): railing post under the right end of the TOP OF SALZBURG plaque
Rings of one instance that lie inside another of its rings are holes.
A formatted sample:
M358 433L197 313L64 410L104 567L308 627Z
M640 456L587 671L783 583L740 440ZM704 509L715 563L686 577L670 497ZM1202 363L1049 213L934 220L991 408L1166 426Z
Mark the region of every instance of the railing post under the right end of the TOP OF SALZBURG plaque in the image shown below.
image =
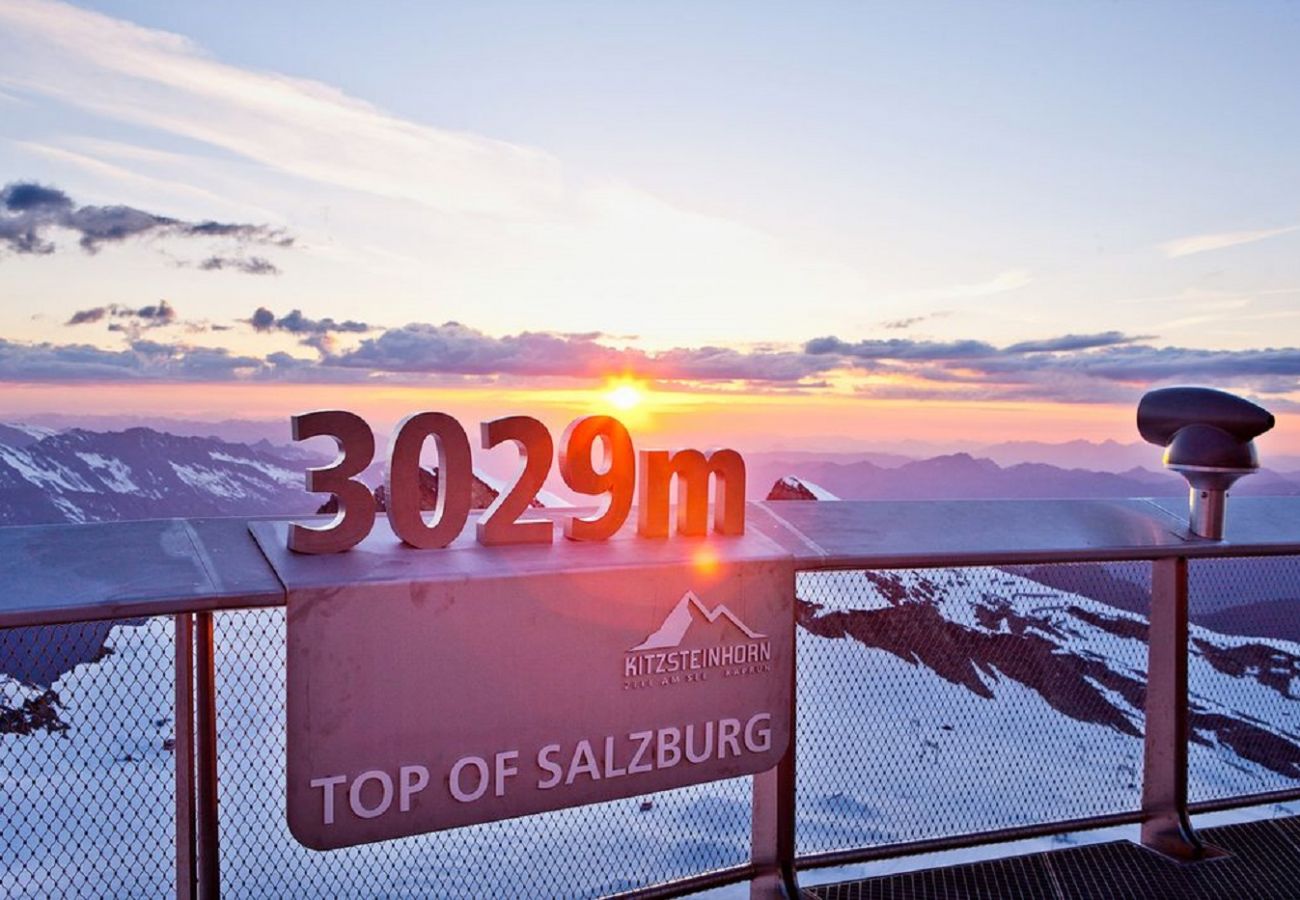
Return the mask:
M796 668L798 658L793 640L790 652L790 745L775 769L754 775L754 801L750 826L750 858L755 874L749 886L750 900L797 900L802 896L794 871L794 748Z

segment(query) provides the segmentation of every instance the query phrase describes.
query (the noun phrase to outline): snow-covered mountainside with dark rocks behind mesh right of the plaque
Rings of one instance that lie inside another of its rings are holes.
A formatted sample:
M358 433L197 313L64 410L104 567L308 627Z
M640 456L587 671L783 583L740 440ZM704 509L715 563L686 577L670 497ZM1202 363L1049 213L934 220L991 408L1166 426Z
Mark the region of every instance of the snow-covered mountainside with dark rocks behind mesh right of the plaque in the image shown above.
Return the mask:
M850 714L823 696L800 718L818 744L871 748L835 792L852 827L898 840L1138 804L1144 615L984 567L807 574L798 597L801 668L862 687ZM1188 655L1191 795L1294 786L1300 644L1192 626Z

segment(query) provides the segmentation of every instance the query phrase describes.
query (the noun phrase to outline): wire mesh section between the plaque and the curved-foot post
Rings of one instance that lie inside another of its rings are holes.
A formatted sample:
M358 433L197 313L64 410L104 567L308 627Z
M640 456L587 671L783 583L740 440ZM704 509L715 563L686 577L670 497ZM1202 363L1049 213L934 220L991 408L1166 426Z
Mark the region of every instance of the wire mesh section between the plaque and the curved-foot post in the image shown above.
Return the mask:
M1139 806L1149 567L798 577L800 853Z

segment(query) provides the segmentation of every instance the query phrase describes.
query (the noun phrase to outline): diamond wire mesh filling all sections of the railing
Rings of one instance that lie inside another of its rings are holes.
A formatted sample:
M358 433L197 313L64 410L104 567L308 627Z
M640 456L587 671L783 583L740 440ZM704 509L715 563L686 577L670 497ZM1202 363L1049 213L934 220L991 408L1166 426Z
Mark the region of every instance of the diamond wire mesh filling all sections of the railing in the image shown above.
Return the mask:
M1193 561L1193 801L1296 787L1300 559ZM800 853L1126 812L1147 563L798 577ZM283 610L216 616L229 896L590 896L749 860L749 779L317 853L285 825ZM0 631L0 895L173 890L169 618Z

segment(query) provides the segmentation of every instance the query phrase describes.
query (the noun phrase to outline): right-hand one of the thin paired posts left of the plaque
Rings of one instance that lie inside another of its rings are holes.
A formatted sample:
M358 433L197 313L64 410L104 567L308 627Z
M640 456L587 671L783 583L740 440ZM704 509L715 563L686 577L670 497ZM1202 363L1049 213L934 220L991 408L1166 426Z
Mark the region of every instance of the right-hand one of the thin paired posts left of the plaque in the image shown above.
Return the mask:
M199 897L217 900L221 896L221 857L217 840L217 684L212 613L195 614L195 668Z

